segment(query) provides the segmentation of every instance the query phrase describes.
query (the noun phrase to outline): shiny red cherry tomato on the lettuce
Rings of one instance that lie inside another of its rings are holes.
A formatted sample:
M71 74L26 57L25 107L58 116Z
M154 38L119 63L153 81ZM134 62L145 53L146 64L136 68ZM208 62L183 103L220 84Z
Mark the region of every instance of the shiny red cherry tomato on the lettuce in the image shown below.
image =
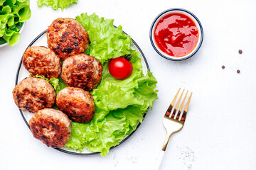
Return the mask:
M109 63L109 71L116 79L126 79L132 74L132 63L124 57L112 59Z

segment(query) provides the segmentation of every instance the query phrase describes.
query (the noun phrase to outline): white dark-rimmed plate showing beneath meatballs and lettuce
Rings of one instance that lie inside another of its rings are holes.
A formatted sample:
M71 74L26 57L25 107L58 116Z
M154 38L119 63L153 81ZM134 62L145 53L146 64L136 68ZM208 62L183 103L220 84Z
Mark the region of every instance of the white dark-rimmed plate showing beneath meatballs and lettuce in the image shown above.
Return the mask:
M143 54L142 50L139 48L139 46L137 45L137 43L134 40L132 40L132 42L133 42L133 45L131 46L131 48L133 50L137 50L137 52L140 53L139 57L142 59L142 71L146 75L146 72L149 69L149 65L147 64L146 58L144 57L144 54ZM31 47L31 46L46 46L46 47L48 46L47 45L47 38L46 38L46 30L43 31L43 33L41 33L40 35L38 35L31 42L31 44L28 45L28 47ZM22 58L23 58L23 56L21 57L21 62L18 66L18 71L17 71L17 74L16 74L16 84L18 84L18 82L20 82L21 80L25 79L26 77L28 77L30 75L29 72L23 67ZM28 111L21 111L21 110L20 110L20 112L21 112L21 116L22 116L23 120L25 121L26 125L28 125L28 128L29 128L28 123L29 123L29 120L32 117L33 113L29 113ZM144 114L144 116L145 115L146 114ZM137 128L139 127L139 125L140 125L140 123L138 123ZM122 142L127 140L127 138L129 136L131 136L134 132L135 132L135 130L130 135L128 135L127 137L124 137L123 140L119 141L119 143L121 144ZM90 155L90 154L98 154L99 153L99 152L90 152L87 149L83 149L82 152L78 152L75 149L68 149L67 147L60 147L60 148L56 148L56 149L58 149L61 152L68 153L68 154Z

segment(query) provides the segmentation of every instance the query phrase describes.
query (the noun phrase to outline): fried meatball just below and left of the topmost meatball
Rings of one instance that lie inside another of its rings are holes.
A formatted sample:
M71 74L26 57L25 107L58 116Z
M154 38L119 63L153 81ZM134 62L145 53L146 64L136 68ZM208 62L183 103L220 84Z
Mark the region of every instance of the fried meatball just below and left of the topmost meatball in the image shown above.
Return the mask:
M32 76L38 74L48 79L60 76L60 57L55 55L50 48L28 47L23 54L22 63Z

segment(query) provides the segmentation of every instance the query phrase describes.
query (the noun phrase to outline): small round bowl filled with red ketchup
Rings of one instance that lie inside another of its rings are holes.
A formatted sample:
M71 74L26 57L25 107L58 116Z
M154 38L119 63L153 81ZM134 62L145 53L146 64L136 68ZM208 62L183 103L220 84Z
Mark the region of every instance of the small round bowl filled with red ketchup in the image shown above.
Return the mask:
M159 55L180 61L192 57L199 50L203 42L203 27L190 11L171 8L156 16L149 36Z

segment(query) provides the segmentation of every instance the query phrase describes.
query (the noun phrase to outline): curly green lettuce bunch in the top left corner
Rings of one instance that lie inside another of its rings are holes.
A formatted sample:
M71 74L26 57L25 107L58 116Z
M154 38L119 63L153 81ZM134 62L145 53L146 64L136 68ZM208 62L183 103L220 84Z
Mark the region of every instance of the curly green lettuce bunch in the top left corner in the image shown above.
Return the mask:
M0 45L16 45L21 26L31 17L29 0L0 0Z

